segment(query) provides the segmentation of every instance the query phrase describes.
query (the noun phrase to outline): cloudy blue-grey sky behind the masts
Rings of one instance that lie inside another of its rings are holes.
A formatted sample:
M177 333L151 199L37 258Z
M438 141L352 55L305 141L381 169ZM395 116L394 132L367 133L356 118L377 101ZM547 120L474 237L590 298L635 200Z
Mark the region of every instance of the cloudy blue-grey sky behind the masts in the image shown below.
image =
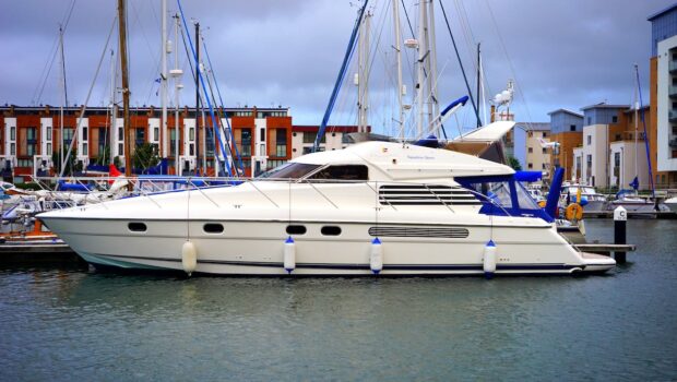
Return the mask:
M369 122L375 131L385 133L392 133L396 114L390 1L370 0L368 7L372 13L373 43ZM467 91L439 0L433 1L437 83L443 107ZM109 105L114 72L110 49L117 51L117 29L108 46L106 40L115 25L117 1L3 2L0 104L62 103L60 55L56 48L59 25L64 24L69 104L83 104L93 86L88 105ZM412 17L409 22L416 31L417 1L402 2L403 38L411 38L403 10ZM358 0L181 0L191 36L192 20L202 26L212 72L225 106L290 107L295 124L321 122L360 3ZM442 0L441 3L473 92L475 46L480 43L487 98L513 80L516 92L511 111L516 120L526 122L547 122L547 114L559 108L579 111L601 102L632 103L634 63L639 65L646 104L651 56L651 23L646 17L672 4L667 0ZM177 2L168 0L168 13L176 11ZM155 82L159 77L161 13L161 0L128 2L132 106L161 104ZM173 25L171 19L169 23ZM169 38L174 40L174 28ZM183 45L174 46L175 52L179 52L179 67L189 72ZM353 61L355 58L356 55ZM413 53L404 51L403 60L408 88L405 100L412 103ZM337 98L330 119L332 124L356 123L354 65ZM174 55L169 57L169 69L173 67ZM183 84L180 104L193 106L194 85L188 73ZM170 97L174 99L174 93ZM473 115L468 105L452 123L472 126Z

